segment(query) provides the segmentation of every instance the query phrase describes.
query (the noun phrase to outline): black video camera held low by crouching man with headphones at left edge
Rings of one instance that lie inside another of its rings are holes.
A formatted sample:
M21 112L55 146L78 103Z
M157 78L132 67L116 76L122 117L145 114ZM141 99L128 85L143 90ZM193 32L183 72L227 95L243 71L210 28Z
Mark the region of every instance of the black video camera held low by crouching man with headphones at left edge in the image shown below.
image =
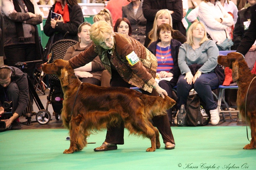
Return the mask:
M12 117L13 113L12 113L12 101L6 101L2 104L2 107L4 108L4 113L0 114L0 130L4 130L6 128L6 124L4 121L4 119L9 119L10 117Z

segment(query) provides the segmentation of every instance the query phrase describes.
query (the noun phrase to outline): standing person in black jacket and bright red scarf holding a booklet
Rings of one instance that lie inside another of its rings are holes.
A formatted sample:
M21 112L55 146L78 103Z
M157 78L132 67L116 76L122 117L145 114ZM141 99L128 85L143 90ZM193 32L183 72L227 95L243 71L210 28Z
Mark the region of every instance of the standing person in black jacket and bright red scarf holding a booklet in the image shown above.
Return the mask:
M62 17L57 20L51 19L51 12L61 14ZM78 41L78 27L83 22L83 12L77 0L56 0L45 21L44 34L50 37L49 41L52 43L63 39L66 33L65 39Z

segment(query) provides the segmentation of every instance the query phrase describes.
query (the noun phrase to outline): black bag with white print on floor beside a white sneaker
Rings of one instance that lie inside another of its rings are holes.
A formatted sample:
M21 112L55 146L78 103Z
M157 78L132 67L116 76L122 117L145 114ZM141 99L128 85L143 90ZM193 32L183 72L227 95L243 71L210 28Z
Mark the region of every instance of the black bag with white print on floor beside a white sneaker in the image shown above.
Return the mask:
M210 112L200 105L197 94L189 95L187 99L187 126L204 126L210 121Z

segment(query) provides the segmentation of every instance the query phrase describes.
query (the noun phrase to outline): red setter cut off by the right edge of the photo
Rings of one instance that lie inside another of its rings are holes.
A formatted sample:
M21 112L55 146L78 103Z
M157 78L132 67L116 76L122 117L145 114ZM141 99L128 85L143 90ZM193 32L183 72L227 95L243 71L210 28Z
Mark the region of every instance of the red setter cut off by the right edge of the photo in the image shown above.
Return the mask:
M251 128L252 140L250 144L244 146L244 149L254 149L256 148L256 79L253 81L252 79L256 75L251 73L243 56L236 52L231 52L227 56L219 56L218 63L232 69L232 79L234 82L237 82L238 85L236 103L239 108L239 114L242 115L244 120L246 114L246 120L250 123ZM250 83L251 85L249 88ZM245 106L245 97L248 88L249 91Z

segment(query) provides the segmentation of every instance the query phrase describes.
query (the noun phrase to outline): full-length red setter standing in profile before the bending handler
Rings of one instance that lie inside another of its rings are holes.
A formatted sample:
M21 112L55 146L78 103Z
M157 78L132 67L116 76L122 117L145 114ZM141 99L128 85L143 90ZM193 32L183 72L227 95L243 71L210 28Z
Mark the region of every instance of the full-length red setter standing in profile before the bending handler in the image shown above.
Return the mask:
M160 148L159 132L149 119L166 114L166 110L176 103L170 97L148 96L122 87L81 84L69 62L61 59L42 64L42 70L57 75L64 92L61 115L63 125L69 129L70 147L63 153L81 151L87 144L88 135L102 128L118 126L122 121L130 134L151 140L151 147L146 151Z

